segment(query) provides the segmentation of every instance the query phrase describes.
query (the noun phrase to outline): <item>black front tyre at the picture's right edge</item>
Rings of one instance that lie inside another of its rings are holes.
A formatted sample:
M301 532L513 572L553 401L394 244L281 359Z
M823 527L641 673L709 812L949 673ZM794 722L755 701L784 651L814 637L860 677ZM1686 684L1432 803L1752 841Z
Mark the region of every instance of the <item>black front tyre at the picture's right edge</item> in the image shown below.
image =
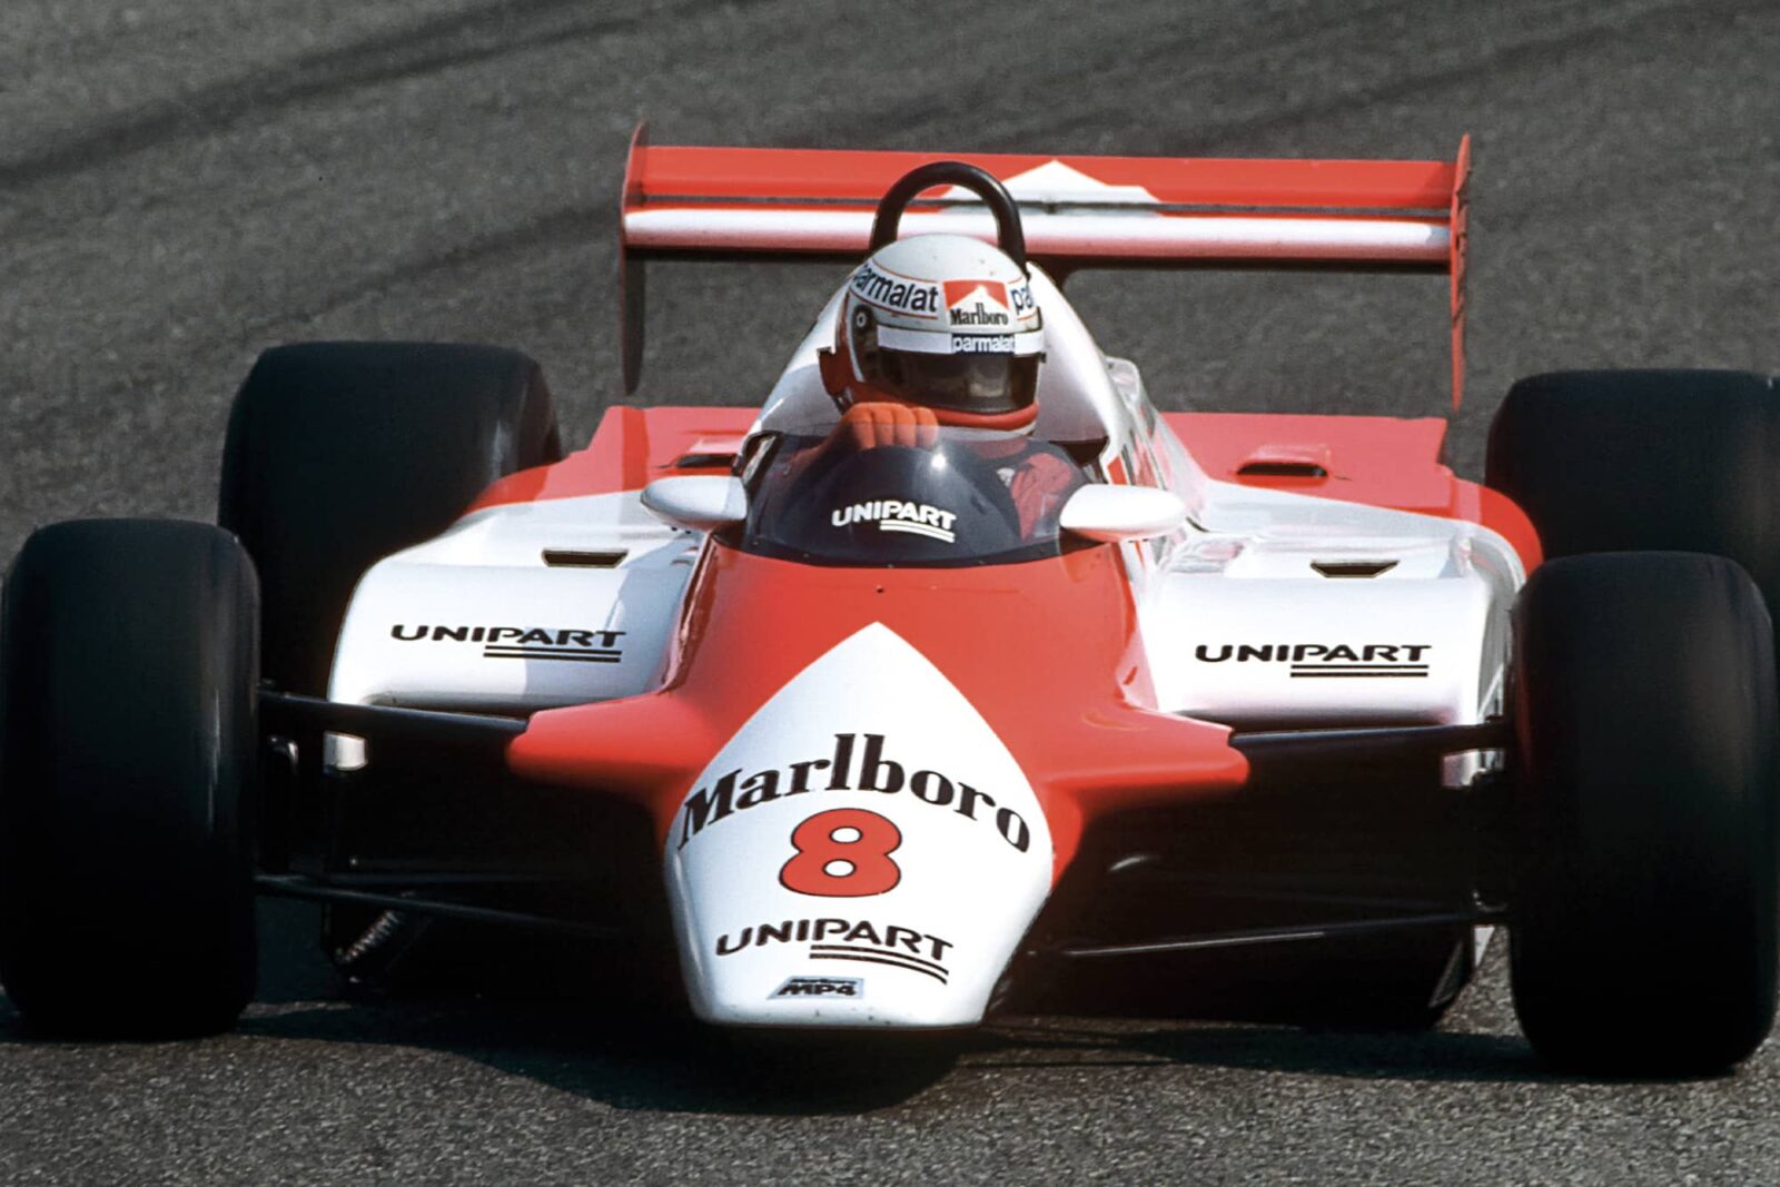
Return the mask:
M1728 1068L1776 984L1773 632L1723 557L1602 553L1517 607L1515 1009L1586 1073Z

